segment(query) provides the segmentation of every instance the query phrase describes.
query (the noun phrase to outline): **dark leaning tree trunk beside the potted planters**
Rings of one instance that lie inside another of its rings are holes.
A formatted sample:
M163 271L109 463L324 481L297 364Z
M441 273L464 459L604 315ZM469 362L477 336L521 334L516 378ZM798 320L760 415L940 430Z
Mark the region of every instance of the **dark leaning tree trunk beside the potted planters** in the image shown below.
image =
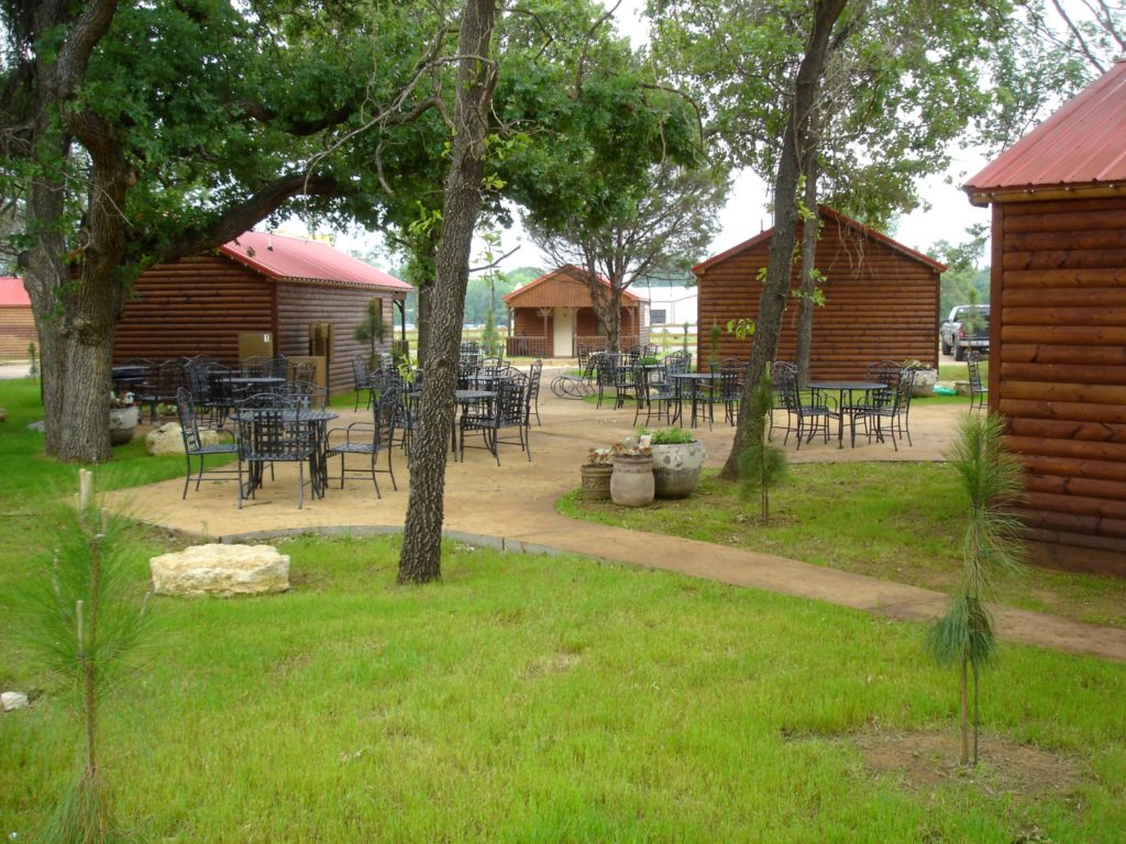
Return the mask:
M797 187L803 156L810 143L808 122L824 74L829 36L847 2L848 0L817 0L814 5L810 41L797 70L794 101L783 133L778 174L775 179L775 233L770 239L770 250L767 254L767 279L759 297L751 360L747 367L747 380L740 402L739 425L735 429L731 454L721 473L721 477L727 481L739 477L739 455L750 434L750 416L745 413L745 408L751 405L754 386L761 380L767 363L774 360L778 349L781 317L786 311L786 298L789 296L797 231Z

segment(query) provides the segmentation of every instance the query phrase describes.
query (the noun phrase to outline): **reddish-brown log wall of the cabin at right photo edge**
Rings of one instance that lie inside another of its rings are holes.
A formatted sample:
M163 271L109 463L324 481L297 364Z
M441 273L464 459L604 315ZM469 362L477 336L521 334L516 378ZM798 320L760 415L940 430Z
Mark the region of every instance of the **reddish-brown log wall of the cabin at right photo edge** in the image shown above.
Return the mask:
M1126 576L1126 199L994 206L991 403L1034 562Z

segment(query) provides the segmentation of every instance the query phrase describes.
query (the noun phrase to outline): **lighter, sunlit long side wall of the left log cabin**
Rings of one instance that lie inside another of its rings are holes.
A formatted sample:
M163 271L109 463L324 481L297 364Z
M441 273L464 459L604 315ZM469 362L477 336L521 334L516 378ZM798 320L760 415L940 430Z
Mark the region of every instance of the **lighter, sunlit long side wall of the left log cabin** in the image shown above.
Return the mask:
M356 326L366 317L367 303L373 298L382 299L383 322L387 326L385 341L377 343L376 349L390 352L391 341L394 339L394 304L390 293L378 294L324 284L278 282L278 338L275 340L275 349L287 356L309 354L310 323L332 323L329 392L334 394L352 389L352 357L368 356L367 343L356 340Z

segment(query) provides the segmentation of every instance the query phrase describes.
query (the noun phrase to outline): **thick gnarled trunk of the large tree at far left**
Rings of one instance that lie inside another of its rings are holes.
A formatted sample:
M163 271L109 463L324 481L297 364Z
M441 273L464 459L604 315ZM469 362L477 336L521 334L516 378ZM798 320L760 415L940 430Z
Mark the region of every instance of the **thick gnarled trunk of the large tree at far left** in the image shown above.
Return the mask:
M64 461L100 463L110 454L109 362L123 295L117 268L125 252L128 168L113 127L77 92L116 7L107 0L89 3L53 60L36 60L33 143L41 174L29 194L36 226L26 286L39 326L45 448ZM59 26L69 14L64 6L45 3L36 12L35 30ZM89 153L90 172L81 249L68 257L62 185L72 138Z

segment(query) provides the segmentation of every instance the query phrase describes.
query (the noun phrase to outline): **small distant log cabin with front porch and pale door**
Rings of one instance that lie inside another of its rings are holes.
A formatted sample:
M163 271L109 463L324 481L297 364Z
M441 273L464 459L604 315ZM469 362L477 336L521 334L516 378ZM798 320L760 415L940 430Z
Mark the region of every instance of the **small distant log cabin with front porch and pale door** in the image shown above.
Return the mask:
M609 289L610 282L599 276ZM508 354L537 358L573 358L580 351L606 349L584 270L561 267L529 281L503 297L509 311ZM645 299L622 293L618 344L622 351L641 349L649 342Z

